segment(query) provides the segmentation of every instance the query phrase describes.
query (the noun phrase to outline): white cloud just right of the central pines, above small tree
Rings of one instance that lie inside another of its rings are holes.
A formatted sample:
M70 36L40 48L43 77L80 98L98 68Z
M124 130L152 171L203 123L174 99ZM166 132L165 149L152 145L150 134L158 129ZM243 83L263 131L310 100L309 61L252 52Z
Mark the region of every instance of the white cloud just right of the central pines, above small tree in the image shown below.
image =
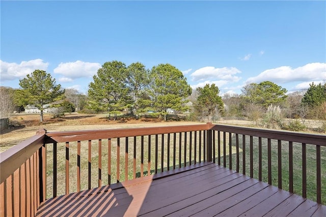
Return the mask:
M200 82L204 80L229 80L231 82L238 82L240 80L240 77L235 76L235 74L241 73L240 70L238 70L235 67L223 67L223 68L215 68L213 66L206 66L200 69L197 69L195 72L193 72L190 76L192 77L192 80Z

